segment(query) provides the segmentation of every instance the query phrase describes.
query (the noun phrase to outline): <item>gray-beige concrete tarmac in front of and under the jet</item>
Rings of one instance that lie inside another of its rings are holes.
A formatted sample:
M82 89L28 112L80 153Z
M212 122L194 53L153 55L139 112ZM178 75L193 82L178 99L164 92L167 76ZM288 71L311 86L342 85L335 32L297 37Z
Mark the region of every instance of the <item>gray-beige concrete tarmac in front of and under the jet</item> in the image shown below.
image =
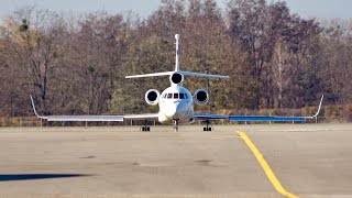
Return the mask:
M352 196L352 124L0 128L0 197Z

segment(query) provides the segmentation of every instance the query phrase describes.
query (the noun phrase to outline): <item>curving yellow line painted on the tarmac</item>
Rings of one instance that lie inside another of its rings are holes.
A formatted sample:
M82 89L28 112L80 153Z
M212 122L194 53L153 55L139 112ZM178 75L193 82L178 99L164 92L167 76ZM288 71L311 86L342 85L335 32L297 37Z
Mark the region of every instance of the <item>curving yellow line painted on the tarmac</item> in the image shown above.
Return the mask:
M286 189L283 187L283 185L278 182L278 179L276 178L274 172L272 170L272 168L270 167L270 165L267 164L267 162L265 161L263 154L261 153L261 151L255 146L255 144L251 141L251 139L242 131L238 131L238 134L242 138L242 140L245 142L245 144L250 147L250 150L252 151L252 153L254 154L255 158L257 160L257 162L261 164L262 168L264 169L267 178L271 180L271 183L273 184L273 186L275 187L275 189L289 198L298 198L298 196L293 195L288 191L286 191Z

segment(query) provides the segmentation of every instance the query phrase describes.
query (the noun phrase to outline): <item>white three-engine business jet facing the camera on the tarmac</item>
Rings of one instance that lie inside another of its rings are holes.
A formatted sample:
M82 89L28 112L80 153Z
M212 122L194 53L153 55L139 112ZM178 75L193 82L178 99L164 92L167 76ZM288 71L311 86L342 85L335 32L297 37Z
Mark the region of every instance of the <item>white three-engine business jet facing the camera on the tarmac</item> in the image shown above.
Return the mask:
M142 77L155 77L155 76L168 76L170 87L166 88L162 94L156 89L150 89L145 94L145 101L151 106L158 105L160 111L157 113L148 114L125 114L125 116L40 116L35 110L34 101L31 96L32 106L34 113L37 118L47 121L103 121L122 122L124 120L144 120L145 124L141 128L142 131L150 131L150 127L146 124L147 121L157 120L161 123L174 123L174 129L178 131L179 123L193 123L195 120L205 121L207 124L204 131L211 131L209 125L211 120L230 120L230 121L275 121L275 122L288 122L288 121L307 121L316 118L321 108L323 97L321 97L318 111L312 117L266 117L266 116L228 116L228 114L199 114L194 111L194 103L206 105L209 101L209 94L205 89L198 89L194 95L188 89L183 87L185 76L198 76L209 78L229 78L229 76L210 75L201 73L190 73L179 69L179 34L175 35L176 38L176 65L175 70L144 74L135 76L127 76L125 78L142 78Z

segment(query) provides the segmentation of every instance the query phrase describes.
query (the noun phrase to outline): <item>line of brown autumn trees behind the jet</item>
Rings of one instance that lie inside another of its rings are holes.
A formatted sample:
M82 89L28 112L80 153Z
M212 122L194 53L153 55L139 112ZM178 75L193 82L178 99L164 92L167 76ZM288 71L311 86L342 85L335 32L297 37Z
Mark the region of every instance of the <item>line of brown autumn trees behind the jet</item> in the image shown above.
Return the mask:
M285 2L162 0L145 19L132 12L81 15L20 9L0 24L0 116L32 114L30 95L45 114L156 111L147 89L168 78L127 75L172 70L174 35L180 68L229 75L186 77L206 88L200 111L285 109L352 103L352 21L304 19Z

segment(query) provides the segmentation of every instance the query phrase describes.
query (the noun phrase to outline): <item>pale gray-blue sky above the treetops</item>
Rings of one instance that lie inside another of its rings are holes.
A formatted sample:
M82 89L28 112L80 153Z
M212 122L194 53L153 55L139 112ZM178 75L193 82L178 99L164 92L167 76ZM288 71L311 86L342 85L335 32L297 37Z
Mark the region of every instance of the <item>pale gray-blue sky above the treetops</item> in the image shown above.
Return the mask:
M218 0L222 7L224 1ZM286 0L286 2L292 13L298 13L304 18L352 19L352 0ZM132 10L140 16L145 18L157 9L160 0L0 0L0 18L2 19L28 4L35 4L40 9L74 13L101 9L109 12Z

